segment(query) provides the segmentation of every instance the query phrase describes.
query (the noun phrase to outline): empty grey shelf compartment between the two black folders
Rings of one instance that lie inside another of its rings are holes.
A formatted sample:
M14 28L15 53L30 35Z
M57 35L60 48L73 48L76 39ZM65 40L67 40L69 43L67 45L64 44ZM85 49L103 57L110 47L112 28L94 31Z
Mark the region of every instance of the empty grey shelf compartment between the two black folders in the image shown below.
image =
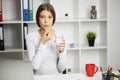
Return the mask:
M21 24L4 24L4 43L7 49L22 49Z

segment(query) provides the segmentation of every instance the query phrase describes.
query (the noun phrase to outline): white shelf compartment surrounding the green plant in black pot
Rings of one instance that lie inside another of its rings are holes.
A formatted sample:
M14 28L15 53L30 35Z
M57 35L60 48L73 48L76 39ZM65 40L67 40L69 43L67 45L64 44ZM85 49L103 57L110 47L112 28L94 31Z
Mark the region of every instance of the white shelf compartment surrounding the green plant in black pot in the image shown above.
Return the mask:
M83 22L81 23L81 47L88 45L88 40L86 33L89 31L94 31L97 34L95 39L95 46L97 47L107 47L107 22Z

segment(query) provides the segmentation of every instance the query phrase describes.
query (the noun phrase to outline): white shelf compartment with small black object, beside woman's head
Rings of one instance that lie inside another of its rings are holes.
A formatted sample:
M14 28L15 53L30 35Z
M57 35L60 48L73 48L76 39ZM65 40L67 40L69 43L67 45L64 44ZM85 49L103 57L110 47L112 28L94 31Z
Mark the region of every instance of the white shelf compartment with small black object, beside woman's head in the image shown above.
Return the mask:
M78 19L78 1L74 0L50 0L56 11L56 19ZM68 14L68 16L65 16Z

